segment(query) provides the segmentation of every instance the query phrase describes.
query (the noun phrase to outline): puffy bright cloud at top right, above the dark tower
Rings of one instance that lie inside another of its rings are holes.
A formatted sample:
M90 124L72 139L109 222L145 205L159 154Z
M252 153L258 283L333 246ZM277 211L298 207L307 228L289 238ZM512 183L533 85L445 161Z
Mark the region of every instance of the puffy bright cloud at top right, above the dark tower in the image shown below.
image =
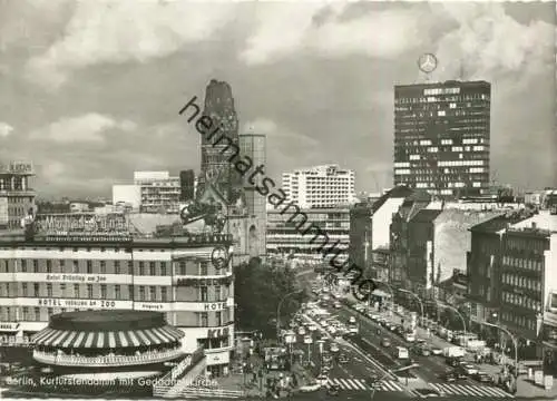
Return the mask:
M508 74L529 77L553 68L555 28L544 21L521 25L500 3L443 3L436 13L457 22L437 43L434 78L495 80ZM516 82L518 84L518 82ZM515 85L516 87L516 85Z

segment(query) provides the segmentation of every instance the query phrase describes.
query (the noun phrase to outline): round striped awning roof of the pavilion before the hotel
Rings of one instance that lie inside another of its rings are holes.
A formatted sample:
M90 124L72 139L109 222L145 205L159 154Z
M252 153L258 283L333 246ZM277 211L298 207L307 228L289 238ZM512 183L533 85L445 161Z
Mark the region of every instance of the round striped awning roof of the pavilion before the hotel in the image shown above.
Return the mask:
M169 325L116 332L67 331L47 327L37 333L32 341L36 345L63 349L118 349L165 344L183 336L182 331Z

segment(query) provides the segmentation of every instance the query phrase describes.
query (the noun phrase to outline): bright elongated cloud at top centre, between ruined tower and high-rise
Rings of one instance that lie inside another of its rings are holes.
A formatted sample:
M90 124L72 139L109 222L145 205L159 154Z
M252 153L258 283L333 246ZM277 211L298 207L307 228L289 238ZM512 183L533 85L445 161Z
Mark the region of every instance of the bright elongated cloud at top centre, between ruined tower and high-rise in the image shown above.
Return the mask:
M331 58L352 53L394 58L421 42L417 14L409 10L344 19L346 7L344 2L265 4L240 57L247 65L268 63L307 50Z

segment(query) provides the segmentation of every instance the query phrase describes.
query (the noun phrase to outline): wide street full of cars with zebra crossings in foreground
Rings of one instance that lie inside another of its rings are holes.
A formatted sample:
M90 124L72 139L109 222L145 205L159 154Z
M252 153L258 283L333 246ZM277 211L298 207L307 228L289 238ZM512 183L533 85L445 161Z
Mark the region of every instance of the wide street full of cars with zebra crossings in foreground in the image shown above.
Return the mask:
M395 332L395 325L389 324L397 321L389 314L362 305L356 311L339 293L326 287L323 291L322 284L319 287L314 284L313 292L312 302L291 322L295 358L311 366L317 383L323 384L321 390L304 394L305 399L341 395L369 400L372 393L378 400L514 399L501 388L480 382L473 373L456 374L460 368L449 365L448 349L436 349L428 338L405 341L403 334ZM408 358L402 355L404 350ZM458 358L456 363L466 366L465 370L473 368ZM400 369L405 370L397 372ZM330 388L338 393L331 395Z

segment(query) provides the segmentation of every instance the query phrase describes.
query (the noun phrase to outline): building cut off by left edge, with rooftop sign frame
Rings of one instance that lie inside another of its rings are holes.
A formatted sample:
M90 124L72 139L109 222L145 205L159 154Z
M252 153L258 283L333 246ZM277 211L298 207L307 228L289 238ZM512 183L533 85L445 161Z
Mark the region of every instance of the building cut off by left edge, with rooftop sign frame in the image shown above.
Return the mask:
M35 208L36 194L29 187L32 176L31 163L0 164L0 229L19 227L29 208Z

